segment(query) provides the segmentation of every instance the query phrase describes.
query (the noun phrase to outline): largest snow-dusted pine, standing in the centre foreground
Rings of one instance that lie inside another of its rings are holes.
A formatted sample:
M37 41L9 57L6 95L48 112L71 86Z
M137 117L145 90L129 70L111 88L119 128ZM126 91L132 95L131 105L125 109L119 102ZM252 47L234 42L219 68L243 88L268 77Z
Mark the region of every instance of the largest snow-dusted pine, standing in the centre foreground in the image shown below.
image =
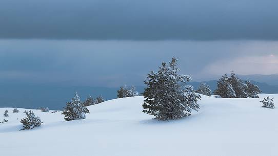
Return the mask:
M143 112L158 120L170 120L189 116L192 109L198 110L197 99L201 96L194 93L193 86L185 85L191 78L178 74L177 59L173 57L169 66L162 62L158 68L145 81Z

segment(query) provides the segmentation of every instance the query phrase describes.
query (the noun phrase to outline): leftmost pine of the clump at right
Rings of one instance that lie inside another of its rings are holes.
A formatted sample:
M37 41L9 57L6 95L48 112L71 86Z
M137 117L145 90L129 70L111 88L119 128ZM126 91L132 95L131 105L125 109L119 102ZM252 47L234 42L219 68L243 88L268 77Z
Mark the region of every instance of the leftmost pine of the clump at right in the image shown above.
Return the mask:
M214 91L215 95L219 95L222 98L235 98L235 92L232 85L228 82L227 74L223 75L222 78L217 81L217 88Z

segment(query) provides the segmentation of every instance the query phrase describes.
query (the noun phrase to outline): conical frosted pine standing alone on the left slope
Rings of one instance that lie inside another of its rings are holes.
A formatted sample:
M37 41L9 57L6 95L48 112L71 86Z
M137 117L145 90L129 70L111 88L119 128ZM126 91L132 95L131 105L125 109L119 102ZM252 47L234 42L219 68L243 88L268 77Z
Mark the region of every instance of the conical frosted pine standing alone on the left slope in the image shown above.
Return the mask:
M89 109L84 106L83 102L78 97L77 92L75 92L75 96L71 102L67 102L67 105L62 112L62 114L65 115L64 119L66 121L86 119L86 113L90 113Z

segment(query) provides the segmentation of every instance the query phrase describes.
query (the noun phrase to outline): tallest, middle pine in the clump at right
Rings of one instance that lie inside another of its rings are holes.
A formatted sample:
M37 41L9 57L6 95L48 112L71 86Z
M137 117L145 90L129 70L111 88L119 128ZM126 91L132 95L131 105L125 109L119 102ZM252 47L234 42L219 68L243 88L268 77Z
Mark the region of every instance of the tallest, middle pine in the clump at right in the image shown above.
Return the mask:
M234 72L231 72L230 78L228 78L228 82L232 85L233 90L235 92L236 98L247 98L247 85L243 83L242 79L237 77Z

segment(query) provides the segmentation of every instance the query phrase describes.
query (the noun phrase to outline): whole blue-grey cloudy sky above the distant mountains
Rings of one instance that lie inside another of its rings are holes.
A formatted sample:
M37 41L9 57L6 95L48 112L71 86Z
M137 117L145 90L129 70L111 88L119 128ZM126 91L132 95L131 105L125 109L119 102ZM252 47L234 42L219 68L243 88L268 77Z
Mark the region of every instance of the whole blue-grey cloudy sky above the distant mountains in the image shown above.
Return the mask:
M2 0L0 81L142 85L172 56L195 81L278 73L278 1Z

